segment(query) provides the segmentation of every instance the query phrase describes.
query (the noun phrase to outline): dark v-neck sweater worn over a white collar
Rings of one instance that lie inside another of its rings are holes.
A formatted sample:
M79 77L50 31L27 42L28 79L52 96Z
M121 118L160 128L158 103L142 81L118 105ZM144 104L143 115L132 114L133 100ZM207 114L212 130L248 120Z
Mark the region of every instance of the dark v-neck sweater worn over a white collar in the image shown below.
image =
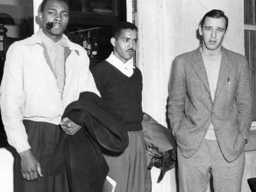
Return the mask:
M109 113L122 116L127 131L142 129L141 108L142 76L136 67L131 77L102 61L92 68L92 74L102 99L107 102Z

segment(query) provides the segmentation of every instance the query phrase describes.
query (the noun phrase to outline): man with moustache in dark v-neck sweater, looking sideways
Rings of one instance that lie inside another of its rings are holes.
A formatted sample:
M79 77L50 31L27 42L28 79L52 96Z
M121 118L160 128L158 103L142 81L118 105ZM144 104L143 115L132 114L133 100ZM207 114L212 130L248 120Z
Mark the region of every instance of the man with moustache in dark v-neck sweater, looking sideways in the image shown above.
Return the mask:
M129 146L122 153L104 151L109 177L116 181L116 190L145 191L147 159L141 127L142 76L134 67L132 56L136 49L138 29L129 22L113 26L113 52L108 59L92 68L92 74L109 113L121 116L129 134Z

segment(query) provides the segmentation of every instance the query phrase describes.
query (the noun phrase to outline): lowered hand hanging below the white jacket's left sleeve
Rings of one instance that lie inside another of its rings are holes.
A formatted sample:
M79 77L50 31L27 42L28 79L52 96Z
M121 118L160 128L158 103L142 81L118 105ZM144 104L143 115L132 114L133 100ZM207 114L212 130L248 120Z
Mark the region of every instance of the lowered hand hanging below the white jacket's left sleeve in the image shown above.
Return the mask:
M40 164L33 156L30 149L25 150L24 152L20 152L19 155L21 167L20 172L23 179L35 180L38 179L38 175L43 177Z

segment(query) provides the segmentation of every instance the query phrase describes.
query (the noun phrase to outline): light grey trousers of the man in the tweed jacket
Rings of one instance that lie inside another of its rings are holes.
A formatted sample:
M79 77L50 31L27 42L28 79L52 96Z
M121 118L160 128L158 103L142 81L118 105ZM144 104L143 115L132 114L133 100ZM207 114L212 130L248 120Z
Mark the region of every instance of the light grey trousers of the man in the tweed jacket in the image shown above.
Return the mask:
M228 163L216 140L204 140L186 159L177 147L179 191L206 191L212 175L214 192L240 192L244 172L244 152Z

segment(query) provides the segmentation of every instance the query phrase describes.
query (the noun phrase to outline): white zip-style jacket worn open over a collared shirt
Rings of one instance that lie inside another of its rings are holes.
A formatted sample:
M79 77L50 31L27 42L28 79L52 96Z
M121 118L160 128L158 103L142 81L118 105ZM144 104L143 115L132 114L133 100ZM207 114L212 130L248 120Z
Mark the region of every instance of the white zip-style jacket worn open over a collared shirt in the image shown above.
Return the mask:
M64 36L67 38L67 36ZM13 43L8 49L1 83L1 114L8 142L22 152L30 148L22 120L60 124L63 111L79 93L99 92L80 45L65 48L65 86L61 95L44 56L38 33Z

